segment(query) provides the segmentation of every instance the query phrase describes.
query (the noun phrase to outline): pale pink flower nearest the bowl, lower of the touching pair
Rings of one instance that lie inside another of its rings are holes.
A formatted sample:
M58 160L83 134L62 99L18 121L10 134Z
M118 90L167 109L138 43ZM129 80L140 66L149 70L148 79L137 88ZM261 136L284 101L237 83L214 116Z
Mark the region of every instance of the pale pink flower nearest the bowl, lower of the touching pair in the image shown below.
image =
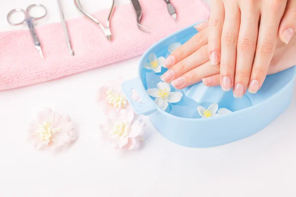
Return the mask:
M144 140L144 123L135 118L132 110L110 113L105 124L100 125L102 137L111 142L114 148L137 150Z

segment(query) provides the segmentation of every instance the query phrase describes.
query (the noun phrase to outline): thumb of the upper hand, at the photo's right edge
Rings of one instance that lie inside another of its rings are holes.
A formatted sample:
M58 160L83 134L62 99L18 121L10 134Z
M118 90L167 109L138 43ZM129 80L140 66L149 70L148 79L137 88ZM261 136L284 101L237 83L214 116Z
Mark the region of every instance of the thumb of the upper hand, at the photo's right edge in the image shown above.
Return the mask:
M279 36L280 39L288 44L296 30L296 1L288 0L285 14L282 18Z

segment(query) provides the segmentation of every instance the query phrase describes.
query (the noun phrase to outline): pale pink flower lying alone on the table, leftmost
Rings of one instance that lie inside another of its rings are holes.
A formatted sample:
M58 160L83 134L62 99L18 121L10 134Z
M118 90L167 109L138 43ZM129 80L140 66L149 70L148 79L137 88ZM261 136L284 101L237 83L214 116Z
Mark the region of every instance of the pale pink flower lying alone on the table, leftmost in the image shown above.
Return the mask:
M47 148L56 151L77 139L73 123L68 115L60 115L51 109L38 113L37 121L30 124L28 141L35 149Z

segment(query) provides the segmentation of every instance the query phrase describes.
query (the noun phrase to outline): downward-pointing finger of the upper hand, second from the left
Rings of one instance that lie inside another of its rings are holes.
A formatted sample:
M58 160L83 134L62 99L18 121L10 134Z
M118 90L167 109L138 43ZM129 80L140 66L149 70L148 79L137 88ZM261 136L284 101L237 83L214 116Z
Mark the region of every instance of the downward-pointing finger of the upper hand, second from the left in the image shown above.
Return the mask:
M235 0L225 3L225 20L221 39L221 87L230 91L233 87L236 64L236 48L240 26L240 10ZM251 72L251 70L250 70Z

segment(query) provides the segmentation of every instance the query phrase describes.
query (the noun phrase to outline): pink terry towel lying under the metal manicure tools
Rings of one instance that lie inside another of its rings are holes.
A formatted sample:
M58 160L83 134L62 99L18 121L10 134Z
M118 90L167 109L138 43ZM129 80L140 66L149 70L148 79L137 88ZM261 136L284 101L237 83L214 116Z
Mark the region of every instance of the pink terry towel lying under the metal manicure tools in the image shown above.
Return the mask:
M85 17L69 20L68 29L75 56L68 54L61 23L38 27L44 62L28 30L0 33L0 91L57 79L141 55L159 39L209 16L210 10L202 0L171 2L176 8L177 23L169 15L164 0L140 1L142 23L150 28L151 33L138 29L132 4L116 7L111 19L112 42ZM109 10L102 10L94 16L106 24L108 13Z

